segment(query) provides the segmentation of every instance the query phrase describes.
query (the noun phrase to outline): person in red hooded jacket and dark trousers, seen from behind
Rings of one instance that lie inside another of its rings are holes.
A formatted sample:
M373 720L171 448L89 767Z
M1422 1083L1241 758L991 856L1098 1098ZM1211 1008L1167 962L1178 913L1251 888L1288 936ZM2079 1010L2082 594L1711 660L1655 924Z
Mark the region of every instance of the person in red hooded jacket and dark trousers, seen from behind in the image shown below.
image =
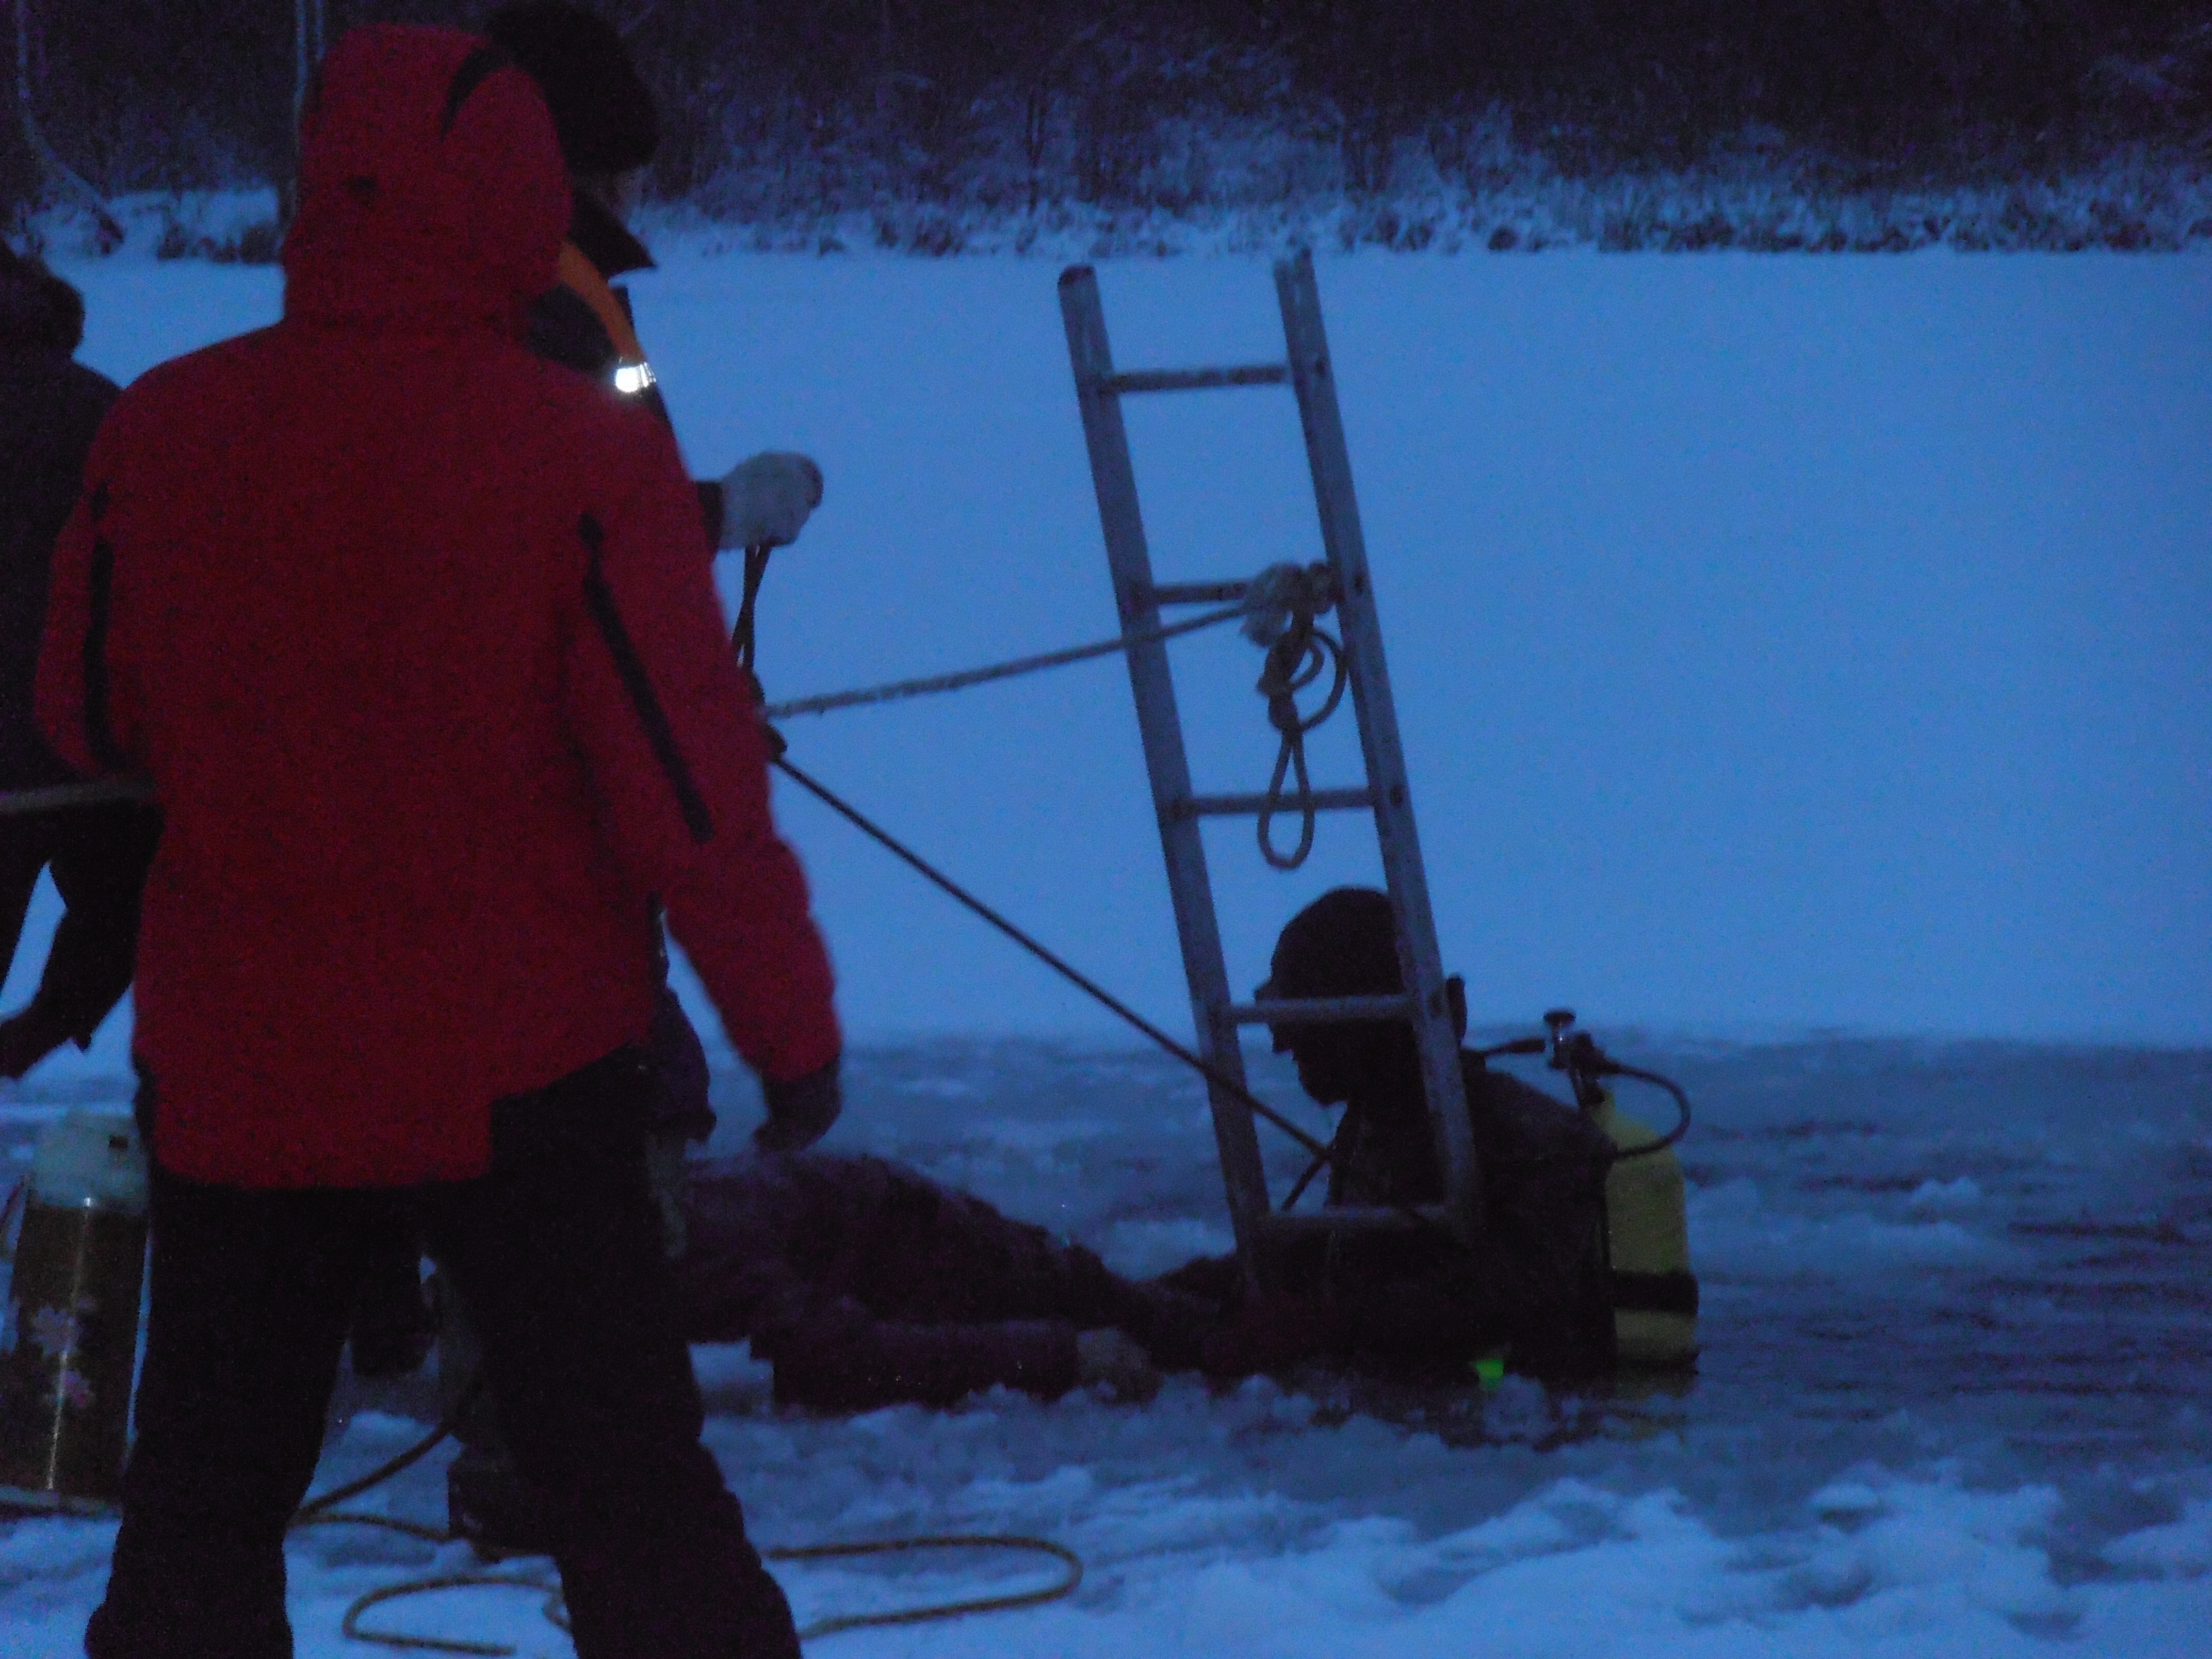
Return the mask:
M40 726L166 823L93 1659L290 1655L283 1531L396 1210L549 1495L577 1652L799 1652L699 1444L646 1181L655 905L772 1110L836 1064L832 975L675 445L522 343L568 208L502 53L349 33L283 321L122 396L55 551Z

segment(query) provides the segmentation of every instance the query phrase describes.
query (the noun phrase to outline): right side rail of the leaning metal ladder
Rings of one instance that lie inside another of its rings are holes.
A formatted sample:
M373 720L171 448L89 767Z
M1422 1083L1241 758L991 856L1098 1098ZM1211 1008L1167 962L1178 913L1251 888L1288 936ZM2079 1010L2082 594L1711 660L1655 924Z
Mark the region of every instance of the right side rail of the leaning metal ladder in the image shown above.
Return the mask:
M1460 1042L1451 1029L1444 962L1436 942L1420 838L1413 830L1413 794L1407 787L1398 712L1389 695L1383 624L1376 617L1367 573L1367 538L1360 533L1358 498L1352 489L1352 453L1345 447L1343 414L1336 403L1336 372L1321 323L1312 252L1298 250L1296 257L1276 261L1274 288L1283 307L1292 387L1298 394L1298 422L1305 429L1305 456L1314 476L1314 504L1321 509L1321 540L1336 573L1352 710L1367 783L1374 790L1385 887L1398 918L1398 969L1416 1000L1413 1037L1429 1095L1436 1152L1444 1168L1447 1203L1473 1239L1482 1228L1482 1172L1475 1164L1473 1124L1467 1117Z

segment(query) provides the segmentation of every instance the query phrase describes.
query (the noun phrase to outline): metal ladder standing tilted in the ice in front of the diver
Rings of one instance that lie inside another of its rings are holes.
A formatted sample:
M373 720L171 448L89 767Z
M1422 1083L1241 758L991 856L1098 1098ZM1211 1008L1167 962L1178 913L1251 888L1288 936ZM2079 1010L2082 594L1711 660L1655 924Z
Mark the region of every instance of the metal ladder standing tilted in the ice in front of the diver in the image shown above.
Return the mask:
M1451 1026L1451 1002L1444 989L1442 958L1436 947L1436 918L1429 911L1429 880L1420 863L1420 838L1413 832L1413 796L1405 776L1405 752L1398 743L1398 712L1391 706L1389 672L1383 664L1383 628L1376 622L1374 588L1367 580L1367 544L1360 535L1358 504L1352 495L1352 458L1345 451L1345 429L1336 409L1336 378L1329 345L1321 330L1321 294L1314 288L1314 259L1301 250L1274 265L1274 290L1283 305L1283 338L1287 363L1263 363L1219 369L1135 369L1117 372L1106 345L1106 312L1099 303L1097 274L1088 265L1071 265L1060 274L1060 312L1068 330L1068 358L1075 367L1075 398L1084 416L1084 440L1091 447L1091 478L1097 487L1099 520L1106 531L1106 562L1113 568L1115 606L1121 613L1121 635L1128 646L1128 679L1137 695L1137 726L1144 734L1144 761L1152 779L1152 805L1159 814L1159 841L1168 858L1168 889L1175 896L1175 927L1183 947L1183 975L1190 982L1190 1009L1197 1018L1199 1051L1217 1073L1245 1086L1239 1026L1296 1018L1303 1024L1345 1020L1411 1020L1420 1048L1420 1071L1427 1086L1429 1121L1436 1135L1438 1166L1444 1172L1444 1201L1427 1206L1462 1239L1473 1239L1482 1225L1482 1186L1475 1168L1473 1130L1467 1119L1467 1095L1460 1075L1460 1044ZM1183 726L1175 706L1175 679L1168 670L1166 641L1157 637L1164 606L1225 604L1243 597L1248 582L1152 582L1152 555L1137 509L1137 473L1128 453L1128 429L1121 420L1121 398L1152 392L1203 392L1212 387L1290 385L1298 396L1298 420L1305 427L1305 458L1314 476L1314 504L1321 509L1321 542L1336 584L1336 608L1343 628L1345 668L1352 684L1352 708L1358 719L1360 759L1367 776L1349 790L1314 790L1314 805L1325 810L1371 807L1376 838L1383 845L1383 874L1391 911L1398 920L1398 969L1411 987L1407 995L1237 1002L1230 995L1228 962L1221 956L1221 929L1214 914L1214 891L1206 874L1206 845L1199 836L1203 818L1256 816L1267 799L1261 794L1194 794L1190 763L1183 752ZM1237 1230L1237 1254L1245 1274L1261 1279L1270 1250L1292 1237L1340 1232L1354 1228L1411 1225L1398 1210L1380 1206L1329 1206L1303 1214L1285 1214L1267 1194L1261 1168L1259 1133L1252 1110L1228 1088L1208 1086L1214 1139L1221 1146L1221 1177L1228 1186L1230 1221Z

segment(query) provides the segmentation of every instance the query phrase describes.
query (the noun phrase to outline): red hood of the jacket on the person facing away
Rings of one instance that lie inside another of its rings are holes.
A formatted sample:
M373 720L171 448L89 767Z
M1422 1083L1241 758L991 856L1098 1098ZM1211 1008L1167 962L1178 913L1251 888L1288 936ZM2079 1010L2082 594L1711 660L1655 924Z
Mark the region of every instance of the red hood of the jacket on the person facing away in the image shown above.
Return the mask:
M520 332L566 230L553 117L498 46L372 24L323 60L283 243L288 316Z

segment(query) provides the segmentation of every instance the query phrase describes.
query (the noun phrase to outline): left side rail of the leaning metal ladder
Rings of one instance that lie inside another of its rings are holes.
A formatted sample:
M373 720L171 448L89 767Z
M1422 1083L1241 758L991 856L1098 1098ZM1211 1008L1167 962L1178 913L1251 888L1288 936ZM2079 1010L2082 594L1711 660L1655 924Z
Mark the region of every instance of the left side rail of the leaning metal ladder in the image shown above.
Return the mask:
M1137 507L1128 427L1110 389L1113 352L1106 341L1106 310L1099 303L1097 274L1088 265L1062 272L1060 314L1066 323L1068 358L1075 367L1075 400L1091 451L1091 482L1097 489L1099 524L1106 533L1115 608L1121 615L1121 635L1137 639L1137 635L1157 630L1159 604L1152 586L1152 555L1144 538L1144 515ZM1190 799L1190 759L1183 750L1168 648L1166 641L1152 637L1130 644L1124 655L1128 657L1130 690L1137 699L1137 728L1144 737L1144 763L1152 781L1161 852L1168 860L1168 891L1175 900L1175 931L1183 949L1183 978L1190 984L1199 1051L1208 1064L1241 1088L1245 1084L1243 1051L1234 1022L1225 1018L1230 1009L1228 958L1221 951L1221 925L1214 916L1212 880L1206 874L1206 843L1199 818L1179 812L1179 805ZM1206 1095L1214 1117L1214 1141L1221 1148L1221 1177L1228 1188L1237 1256L1245 1276L1256 1281L1259 1223L1272 1208L1259 1130L1252 1124L1252 1110L1234 1095L1212 1082Z

